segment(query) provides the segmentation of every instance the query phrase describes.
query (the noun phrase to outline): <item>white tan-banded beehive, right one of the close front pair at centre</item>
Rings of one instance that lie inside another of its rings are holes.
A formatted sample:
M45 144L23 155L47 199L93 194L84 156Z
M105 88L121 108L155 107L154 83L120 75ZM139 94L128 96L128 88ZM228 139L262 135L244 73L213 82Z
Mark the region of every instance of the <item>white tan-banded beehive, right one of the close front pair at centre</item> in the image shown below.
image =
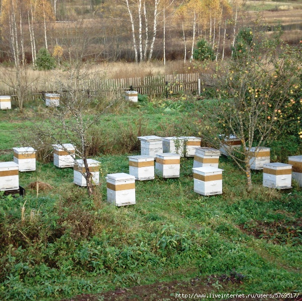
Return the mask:
M179 178L180 155L173 153L156 154L155 174L163 178Z

